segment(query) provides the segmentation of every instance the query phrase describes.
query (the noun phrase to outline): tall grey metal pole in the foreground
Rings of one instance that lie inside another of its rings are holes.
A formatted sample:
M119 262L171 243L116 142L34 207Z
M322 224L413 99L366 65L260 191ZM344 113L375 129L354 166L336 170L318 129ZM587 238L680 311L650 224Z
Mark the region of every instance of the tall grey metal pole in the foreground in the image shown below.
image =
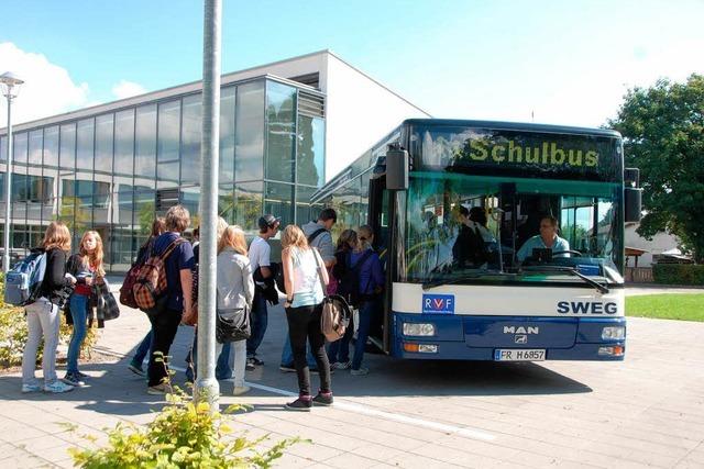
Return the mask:
M198 376L194 398L218 411L216 379L216 248L218 154L220 147L221 0L205 0L202 49L202 136L200 175L200 259L198 277Z

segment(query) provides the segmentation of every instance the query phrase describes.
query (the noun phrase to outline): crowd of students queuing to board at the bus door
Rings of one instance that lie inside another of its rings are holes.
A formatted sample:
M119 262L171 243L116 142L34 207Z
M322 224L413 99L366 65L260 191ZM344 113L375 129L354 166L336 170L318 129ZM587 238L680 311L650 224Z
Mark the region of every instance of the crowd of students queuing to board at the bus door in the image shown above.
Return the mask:
M372 316L380 305L382 266L372 247L373 233L369 226L361 227L359 236L352 230L343 232L336 249L330 233L336 222L334 210L324 209L316 222L302 227L286 226L280 236L282 264L277 265L271 259L270 241L278 234L279 217L272 214L260 217L258 235L249 248L244 232L237 225L228 226L220 219L217 227L217 311L246 310L251 319L251 335L248 339L218 344L216 377L232 377L235 395L249 391L244 381L245 370L264 365L257 356L257 349L267 328L268 303L275 303L278 299L279 289L275 287L275 278L279 269L284 279L284 308L288 325L280 369L296 371L299 387L299 398L286 404L286 407L307 411L314 403L332 404L331 368L351 368L353 375L369 372L361 365ZM158 256L172 249L164 264L167 281L164 311L150 315L152 331L144 337L129 365L135 373L144 375L142 362L150 354L146 375L147 392L152 394L170 391L165 380L167 369L163 360L156 357L168 356L178 325L186 317L193 319L195 314L197 280L194 275L197 273L199 245L194 247L183 241L183 232L188 225L189 214L185 208L177 205L169 209L163 221L154 222L152 237L138 256L138 261L143 261L150 255ZM323 298L337 292L341 280L349 277L348 269L359 276L355 284L359 286L358 293L361 298L358 333L360 345L355 347L352 360L349 359L352 325L343 338L329 345L328 350L320 328ZM197 331L188 356L187 377L191 381L196 372L196 349ZM310 388L311 371L320 376L320 388L315 397Z

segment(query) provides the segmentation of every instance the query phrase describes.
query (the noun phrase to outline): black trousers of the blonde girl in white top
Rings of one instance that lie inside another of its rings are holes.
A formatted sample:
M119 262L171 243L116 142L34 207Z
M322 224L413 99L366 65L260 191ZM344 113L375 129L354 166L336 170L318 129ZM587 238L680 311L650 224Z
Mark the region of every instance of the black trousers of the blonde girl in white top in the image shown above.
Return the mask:
M288 335L294 350L294 364L298 375L300 395L310 395L310 369L306 361L306 339L318 364L320 391L330 392L330 362L326 354L326 337L320 331L322 304L315 306L287 308Z

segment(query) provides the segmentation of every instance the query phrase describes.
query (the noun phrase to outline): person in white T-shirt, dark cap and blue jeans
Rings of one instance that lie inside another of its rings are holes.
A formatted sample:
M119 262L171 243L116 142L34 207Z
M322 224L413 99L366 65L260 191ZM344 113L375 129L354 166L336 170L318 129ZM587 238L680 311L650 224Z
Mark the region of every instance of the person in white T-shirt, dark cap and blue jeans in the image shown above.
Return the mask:
M282 219L267 213L258 220L260 235L252 239L250 244L250 264L255 279L267 279L272 277L270 268L272 247L268 239L276 236ZM258 271L257 271L258 270ZM255 366L264 365L264 361L256 357L256 349L264 339L268 320L266 299L262 294L261 282L257 283L252 303L252 336L246 340L246 366L252 370Z

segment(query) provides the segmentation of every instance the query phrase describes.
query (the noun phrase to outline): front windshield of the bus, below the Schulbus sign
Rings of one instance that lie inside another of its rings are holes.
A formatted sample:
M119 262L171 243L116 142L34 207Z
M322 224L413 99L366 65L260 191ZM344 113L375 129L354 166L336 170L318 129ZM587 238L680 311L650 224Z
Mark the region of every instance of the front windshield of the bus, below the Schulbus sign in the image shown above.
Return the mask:
M579 282L560 269L537 268L560 266L623 282L617 267L623 265L620 190L618 183L603 181L413 171L405 210L405 280ZM564 241L547 258L539 239L546 216L557 220L557 234Z

